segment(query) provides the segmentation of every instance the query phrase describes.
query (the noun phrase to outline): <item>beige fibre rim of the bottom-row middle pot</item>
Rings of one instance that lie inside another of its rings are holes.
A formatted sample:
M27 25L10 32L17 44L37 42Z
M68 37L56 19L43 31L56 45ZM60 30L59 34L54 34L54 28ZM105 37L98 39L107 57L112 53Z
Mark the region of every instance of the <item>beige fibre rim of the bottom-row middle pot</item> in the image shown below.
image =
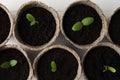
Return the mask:
M36 64L39 60L39 58L45 53L47 52L48 50L50 49L53 49L53 48L62 48L64 50L67 50L69 51L71 54L74 55L74 57L77 59L78 61L78 70L77 70L77 75L75 77L74 80L79 80L80 77L81 77L81 73L82 73L82 67L81 67L81 60L80 60L80 57L79 55L71 48L67 47L67 46L64 46L64 45L52 45L44 50L42 50L41 52L39 52L39 54L37 55L37 57L34 59L34 62L33 62L33 70L34 70L34 76L37 78L37 70L36 70ZM38 78L37 78L38 79Z

